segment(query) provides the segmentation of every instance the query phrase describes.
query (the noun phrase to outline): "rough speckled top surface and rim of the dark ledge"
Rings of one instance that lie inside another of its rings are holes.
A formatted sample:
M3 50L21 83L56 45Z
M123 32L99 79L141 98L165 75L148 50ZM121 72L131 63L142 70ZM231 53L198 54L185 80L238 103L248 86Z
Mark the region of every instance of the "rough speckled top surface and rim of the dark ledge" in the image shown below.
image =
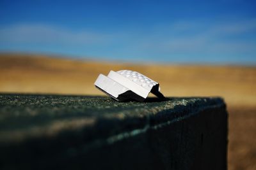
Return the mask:
M2 94L0 145L61 136L92 147L172 124L198 111L225 107L218 97L157 100L119 103L109 97Z

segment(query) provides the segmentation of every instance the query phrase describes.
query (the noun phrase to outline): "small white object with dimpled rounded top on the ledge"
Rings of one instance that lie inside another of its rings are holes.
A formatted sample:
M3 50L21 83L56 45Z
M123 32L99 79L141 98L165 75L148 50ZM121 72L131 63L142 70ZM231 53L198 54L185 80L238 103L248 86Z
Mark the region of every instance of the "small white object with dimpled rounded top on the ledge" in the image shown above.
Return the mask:
M99 74L94 83L102 92L113 97L116 101L145 101L148 94L164 99L159 83L131 70L110 71L108 76Z

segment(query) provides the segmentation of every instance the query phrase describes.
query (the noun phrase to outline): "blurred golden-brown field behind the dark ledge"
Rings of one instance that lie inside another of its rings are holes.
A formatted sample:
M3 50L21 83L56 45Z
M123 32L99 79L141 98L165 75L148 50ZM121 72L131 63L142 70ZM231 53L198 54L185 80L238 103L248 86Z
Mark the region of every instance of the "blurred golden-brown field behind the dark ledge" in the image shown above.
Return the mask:
M103 95L93 83L131 69L160 83L165 96L221 96L229 114L228 169L256 169L256 67L157 65L0 55L0 92Z

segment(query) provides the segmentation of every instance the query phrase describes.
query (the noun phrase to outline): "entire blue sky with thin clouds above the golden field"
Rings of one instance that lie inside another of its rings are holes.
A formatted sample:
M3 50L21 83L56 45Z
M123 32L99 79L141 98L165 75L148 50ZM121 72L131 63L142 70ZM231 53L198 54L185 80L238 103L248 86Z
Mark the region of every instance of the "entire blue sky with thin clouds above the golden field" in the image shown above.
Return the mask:
M0 1L0 52L256 64L254 1Z

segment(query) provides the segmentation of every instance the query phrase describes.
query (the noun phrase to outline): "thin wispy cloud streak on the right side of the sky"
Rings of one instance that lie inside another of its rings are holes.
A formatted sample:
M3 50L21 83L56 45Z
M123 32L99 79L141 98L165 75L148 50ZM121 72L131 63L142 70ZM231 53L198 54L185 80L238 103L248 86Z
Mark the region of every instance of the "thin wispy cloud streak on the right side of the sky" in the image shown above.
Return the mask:
M147 41L141 44L143 48L167 52L245 52L256 49L255 19L220 24L181 22L157 29L160 33L145 38Z

